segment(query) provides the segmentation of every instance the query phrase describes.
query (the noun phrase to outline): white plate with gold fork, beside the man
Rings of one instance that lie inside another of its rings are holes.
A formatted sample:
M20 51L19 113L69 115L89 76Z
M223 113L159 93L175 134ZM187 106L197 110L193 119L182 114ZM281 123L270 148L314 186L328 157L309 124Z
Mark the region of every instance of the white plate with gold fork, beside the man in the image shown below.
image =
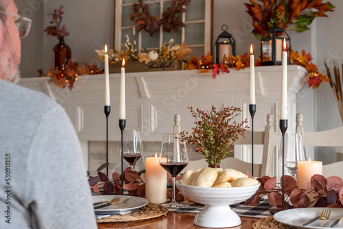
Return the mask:
M118 204L113 204L110 206L106 206L104 208L95 209L95 213L97 214L126 214L131 213L132 211L136 210L137 208L141 208L149 203L149 200L146 200L141 197L137 196L128 196L128 195L119 195L121 198L120 200L129 199L123 202L119 202ZM110 201L115 197L115 195L93 195L92 201L93 203L101 202L101 201Z

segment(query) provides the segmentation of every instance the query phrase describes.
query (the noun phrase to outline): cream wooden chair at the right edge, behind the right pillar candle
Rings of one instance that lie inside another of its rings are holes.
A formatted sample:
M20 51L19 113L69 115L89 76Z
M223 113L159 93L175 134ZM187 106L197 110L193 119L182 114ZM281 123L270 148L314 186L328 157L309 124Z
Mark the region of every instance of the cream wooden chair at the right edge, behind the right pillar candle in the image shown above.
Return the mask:
M296 132L304 134L305 146L343 147L343 126L320 132L304 132L303 115L296 114ZM343 178L343 161L323 165L324 177L340 176Z

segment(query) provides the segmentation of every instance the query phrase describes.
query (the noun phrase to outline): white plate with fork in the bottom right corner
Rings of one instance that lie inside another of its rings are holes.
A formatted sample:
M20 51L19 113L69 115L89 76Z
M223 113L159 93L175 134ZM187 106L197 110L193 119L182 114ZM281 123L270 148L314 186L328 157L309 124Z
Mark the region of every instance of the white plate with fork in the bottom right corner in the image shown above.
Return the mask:
M320 215L322 210L331 210L330 219L318 219L307 226L303 226L303 224L306 221L309 221L309 219L313 219L314 217ZM274 215L274 219L283 224L294 226L296 228L323 229L331 228L331 224L333 224L336 219L342 217L342 215L343 208L294 208L276 213ZM343 220L341 220L334 228L343 228Z

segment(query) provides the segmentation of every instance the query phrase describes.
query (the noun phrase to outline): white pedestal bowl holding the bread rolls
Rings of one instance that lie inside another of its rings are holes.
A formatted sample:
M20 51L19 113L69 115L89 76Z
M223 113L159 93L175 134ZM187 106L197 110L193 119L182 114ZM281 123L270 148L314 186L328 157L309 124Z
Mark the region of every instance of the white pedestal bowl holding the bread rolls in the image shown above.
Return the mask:
M204 209L194 218L193 224L206 228L228 228L241 224L241 219L229 205L248 200L256 193L260 184L235 188L202 188L183 185L178 180L176 186L189 200L205 204Z

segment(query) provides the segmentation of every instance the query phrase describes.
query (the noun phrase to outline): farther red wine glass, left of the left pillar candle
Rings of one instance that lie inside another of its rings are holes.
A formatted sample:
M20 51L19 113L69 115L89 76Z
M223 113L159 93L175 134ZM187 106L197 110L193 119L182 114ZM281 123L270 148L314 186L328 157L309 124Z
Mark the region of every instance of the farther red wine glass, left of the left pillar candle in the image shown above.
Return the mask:
M136 162L143 155L143 146L139 130L125 130L123 134L123 158L134 171Z

